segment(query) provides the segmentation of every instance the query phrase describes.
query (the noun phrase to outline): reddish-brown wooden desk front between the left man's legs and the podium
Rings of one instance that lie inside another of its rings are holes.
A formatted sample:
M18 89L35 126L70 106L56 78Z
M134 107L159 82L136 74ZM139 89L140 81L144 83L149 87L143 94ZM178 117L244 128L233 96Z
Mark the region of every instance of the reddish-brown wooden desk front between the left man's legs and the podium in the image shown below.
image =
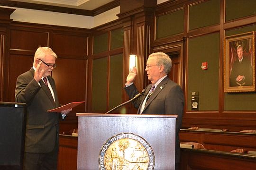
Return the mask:
M58 170L77 170L77 136L59 135Z

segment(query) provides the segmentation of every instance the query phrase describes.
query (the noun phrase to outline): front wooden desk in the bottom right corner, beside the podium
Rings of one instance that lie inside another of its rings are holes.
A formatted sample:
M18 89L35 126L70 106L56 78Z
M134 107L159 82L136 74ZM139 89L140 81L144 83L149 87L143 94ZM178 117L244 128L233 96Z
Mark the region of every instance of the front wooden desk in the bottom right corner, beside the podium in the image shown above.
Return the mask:
M180 170L255 170L256 157L206 149L181 148Z

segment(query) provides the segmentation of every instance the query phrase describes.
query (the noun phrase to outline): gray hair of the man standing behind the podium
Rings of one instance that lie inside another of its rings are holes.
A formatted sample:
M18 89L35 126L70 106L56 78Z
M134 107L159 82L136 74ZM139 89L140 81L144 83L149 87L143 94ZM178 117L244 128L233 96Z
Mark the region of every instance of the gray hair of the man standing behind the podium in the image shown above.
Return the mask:
M163 65L165 73L169 74L172 69L172 59L164 52L155 52L148 56L155 57L157 65Z

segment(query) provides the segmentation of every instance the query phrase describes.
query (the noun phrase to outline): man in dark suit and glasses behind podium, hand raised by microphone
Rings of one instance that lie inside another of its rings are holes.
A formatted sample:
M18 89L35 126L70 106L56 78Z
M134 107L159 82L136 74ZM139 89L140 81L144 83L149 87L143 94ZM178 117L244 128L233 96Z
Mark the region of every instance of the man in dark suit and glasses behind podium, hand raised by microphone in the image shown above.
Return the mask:
M168 73L172 68L172 60L163 52L156 52L149 55L146 62L146 74L152 84L147 85L145 93L137 98L133 105L138 109L137 114L173 114L178 115L176 120L176 156L175 169L178 169L180 160L179 130L182 125L184 96L179 85L169 79ZM137 93L134 79L137 69L130 70L125 90L129 98ZM152 88L153 87L153 88Z

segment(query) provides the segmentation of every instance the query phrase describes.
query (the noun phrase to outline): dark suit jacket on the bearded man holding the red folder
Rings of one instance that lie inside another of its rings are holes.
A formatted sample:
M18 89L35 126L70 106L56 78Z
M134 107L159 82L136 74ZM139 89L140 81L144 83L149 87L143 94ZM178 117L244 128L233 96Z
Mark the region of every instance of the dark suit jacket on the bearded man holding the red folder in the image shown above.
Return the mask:
M58 142L60 113L46 110L58 107L59 100L54 79L51 76L47 78L55 93L55 103L45 83L40 80L40 86L34 79L33 68L17 78L15 101L27 104L25 152L48 153Z

